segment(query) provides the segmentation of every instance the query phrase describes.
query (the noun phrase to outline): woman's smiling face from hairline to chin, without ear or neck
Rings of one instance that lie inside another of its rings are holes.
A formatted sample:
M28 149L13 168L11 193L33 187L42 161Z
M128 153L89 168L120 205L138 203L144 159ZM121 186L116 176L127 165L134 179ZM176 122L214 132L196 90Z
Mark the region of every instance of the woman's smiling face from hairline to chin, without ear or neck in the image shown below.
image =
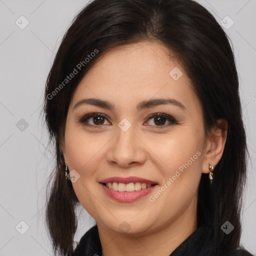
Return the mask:
M195 216L204 134L182 66L163 45L139 42L108 51L78 84L63 154L97 224L142 234Z

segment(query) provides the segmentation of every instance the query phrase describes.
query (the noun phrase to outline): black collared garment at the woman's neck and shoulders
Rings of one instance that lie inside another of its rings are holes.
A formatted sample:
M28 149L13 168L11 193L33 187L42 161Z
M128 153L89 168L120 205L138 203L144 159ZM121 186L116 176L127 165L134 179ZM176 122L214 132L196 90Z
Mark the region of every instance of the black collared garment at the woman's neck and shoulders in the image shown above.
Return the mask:
M213 246L209 232L204 227L197 228L169 256L225 256L212 254ZM102 256L97 226L91 227L80 239L73 256ZM244 249L237 249L234 256L253 256Z

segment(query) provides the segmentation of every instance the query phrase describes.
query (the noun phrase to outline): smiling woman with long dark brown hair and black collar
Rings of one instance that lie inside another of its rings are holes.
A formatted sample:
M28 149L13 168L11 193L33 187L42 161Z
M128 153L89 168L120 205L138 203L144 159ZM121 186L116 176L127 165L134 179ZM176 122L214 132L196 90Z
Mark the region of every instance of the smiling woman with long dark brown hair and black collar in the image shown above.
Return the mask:
M246 142L227 36L192 0L94 0L45 88L61 255L250 255L239 248ZM73 247L75 208L95 219Z

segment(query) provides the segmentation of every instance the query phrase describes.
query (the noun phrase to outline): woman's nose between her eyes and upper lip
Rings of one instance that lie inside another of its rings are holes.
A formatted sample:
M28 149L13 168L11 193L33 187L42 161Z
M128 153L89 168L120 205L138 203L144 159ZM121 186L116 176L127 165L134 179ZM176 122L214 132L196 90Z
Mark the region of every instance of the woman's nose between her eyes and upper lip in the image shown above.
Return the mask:
M145 162L145 145L134 133L132 126L123 131L117 127L117 134L111 139L107 161L111 165L128 168Z

